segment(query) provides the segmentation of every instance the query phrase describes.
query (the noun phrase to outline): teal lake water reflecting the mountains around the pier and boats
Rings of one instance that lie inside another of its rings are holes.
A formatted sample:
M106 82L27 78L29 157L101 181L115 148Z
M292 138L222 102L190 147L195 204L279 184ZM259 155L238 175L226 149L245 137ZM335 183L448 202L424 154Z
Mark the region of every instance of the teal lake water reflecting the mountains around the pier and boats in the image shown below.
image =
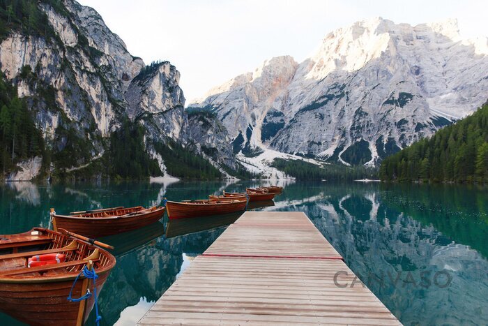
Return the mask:
M254 183L1 186L0 234L47 226L49 207L66 213L206 198ZM488 323L488 190L469 186L288 184L275 205L301 211L404 325ZM162 220L123 235L117 265L100 294L102 325L134 325L191 260L238 216ZM210 230L205 230L210 228ZM340 286L344 283L339 282ZM346 286L359 286L347 284ZM93 315L93 314L92 314ZM93 325L93 316L86 325ZM20 325L0 313L0 325Z

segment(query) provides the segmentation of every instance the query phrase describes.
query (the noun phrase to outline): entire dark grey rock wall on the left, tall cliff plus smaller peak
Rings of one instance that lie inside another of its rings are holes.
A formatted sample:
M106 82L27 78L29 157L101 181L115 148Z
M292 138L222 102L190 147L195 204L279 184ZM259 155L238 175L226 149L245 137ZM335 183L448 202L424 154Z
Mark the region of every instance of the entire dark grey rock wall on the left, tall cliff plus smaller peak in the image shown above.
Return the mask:
M229 153L226 131L190 129L176 67L167 61L146 66L133 57L93 8L73 0L37 6L47 16L47 32L11 31L0 43L0 65L34 113L54 160L60 153L69 158L54 161L54 169L70 171L100 157L126 116L144 125L149 153L167 139L189 150L199 151L202 141Z

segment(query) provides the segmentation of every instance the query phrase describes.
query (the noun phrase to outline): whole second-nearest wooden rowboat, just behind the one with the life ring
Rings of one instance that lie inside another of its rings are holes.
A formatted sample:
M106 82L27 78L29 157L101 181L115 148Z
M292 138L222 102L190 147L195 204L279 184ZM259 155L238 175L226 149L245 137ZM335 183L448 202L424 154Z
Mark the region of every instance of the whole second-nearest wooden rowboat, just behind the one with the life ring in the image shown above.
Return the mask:
M115 207L96 211L73 212L70 215L52 214L54 230L59 228L86 237L98 238L142 228L159 221L165 207Z

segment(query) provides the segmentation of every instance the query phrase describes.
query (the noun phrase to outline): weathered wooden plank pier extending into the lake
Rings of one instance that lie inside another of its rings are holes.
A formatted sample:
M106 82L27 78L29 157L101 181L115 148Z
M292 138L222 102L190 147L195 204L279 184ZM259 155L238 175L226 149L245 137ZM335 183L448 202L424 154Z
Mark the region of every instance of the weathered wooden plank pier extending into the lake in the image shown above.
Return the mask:
M139 325L401 325L354 277L305 214L245 212Z

